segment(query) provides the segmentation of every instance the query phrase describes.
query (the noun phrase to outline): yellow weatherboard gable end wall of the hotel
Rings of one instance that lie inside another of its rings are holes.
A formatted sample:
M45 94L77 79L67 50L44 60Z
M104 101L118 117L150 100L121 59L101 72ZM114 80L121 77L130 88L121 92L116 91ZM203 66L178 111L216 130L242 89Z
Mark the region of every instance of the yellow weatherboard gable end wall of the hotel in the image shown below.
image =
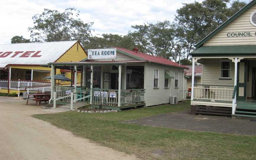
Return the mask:
M56 62L75 62L87 58L82 46L79 42L75 43L65 54L63 54ZM56 69L56 74L60 74L60 69ZM71 79L71 72L65 72L65 77ZM80 83L81 73L77 74L77 83ZM61 84L70 84L70 82L60 82Z

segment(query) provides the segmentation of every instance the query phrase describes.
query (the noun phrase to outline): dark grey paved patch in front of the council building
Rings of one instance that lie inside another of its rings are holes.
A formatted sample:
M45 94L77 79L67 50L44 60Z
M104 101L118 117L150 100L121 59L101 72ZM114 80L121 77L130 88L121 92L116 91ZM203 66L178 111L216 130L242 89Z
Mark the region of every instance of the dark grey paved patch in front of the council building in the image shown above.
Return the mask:
M124 123L168 127L172 129L196 130L205 132L233 133L256 135L256 122L250 120L231 119L221 116L189 115L186 112L164 113Z

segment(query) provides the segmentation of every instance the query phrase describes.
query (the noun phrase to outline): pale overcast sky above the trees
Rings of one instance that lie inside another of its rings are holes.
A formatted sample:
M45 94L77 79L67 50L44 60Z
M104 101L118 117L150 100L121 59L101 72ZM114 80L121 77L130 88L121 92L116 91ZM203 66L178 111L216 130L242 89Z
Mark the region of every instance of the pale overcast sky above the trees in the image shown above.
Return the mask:
M182 3L193 1L0 0L0 44L11 43L11 38L16 35L29 39L28 27L33 27L32 16L41 14L44 8L63 12L66 8L75 7L80 10L81 20L85 23L94 22L93 35L125 35L131 30L131 25L173 21L176 10L183 6Z

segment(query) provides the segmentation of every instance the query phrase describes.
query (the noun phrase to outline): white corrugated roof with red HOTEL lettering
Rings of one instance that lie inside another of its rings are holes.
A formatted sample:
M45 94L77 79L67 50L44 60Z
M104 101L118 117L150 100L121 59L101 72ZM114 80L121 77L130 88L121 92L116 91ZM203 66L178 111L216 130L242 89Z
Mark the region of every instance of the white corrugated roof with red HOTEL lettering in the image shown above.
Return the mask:
M0 45L0 68L4 68L9 64L16 65L41 65L56 61L77 41L61 41L61 42L44 42L44 43L14 43ZM15 52L23 51L15 56ZM20 57L26 51L34 51L28 53L25 57ZM40 51L37 56L32 56ZM2 52L2 53L1 53ZM12 52L7 57L1 57L5 52ZM40 56L41 55L41 56ZM32 56L32 57L31 57ZM40 56L40 57L39 57Z

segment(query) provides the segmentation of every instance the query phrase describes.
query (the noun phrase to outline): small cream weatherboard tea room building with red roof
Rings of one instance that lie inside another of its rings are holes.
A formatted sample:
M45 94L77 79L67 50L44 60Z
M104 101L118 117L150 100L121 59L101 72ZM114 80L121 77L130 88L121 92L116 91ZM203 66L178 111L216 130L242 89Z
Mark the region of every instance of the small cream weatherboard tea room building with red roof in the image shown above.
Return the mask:
M165 58L140 53L137 48L132 51L118 47L89 50L88 59L48 63L47 66L52 67L53 73L56 68L73 68L75 73L83 73L81 87L52 84L54 104L69 102L71 108L78 101L86 103L87 98L92 107L121 110L177 103L185 97L183 83L187 68Z

